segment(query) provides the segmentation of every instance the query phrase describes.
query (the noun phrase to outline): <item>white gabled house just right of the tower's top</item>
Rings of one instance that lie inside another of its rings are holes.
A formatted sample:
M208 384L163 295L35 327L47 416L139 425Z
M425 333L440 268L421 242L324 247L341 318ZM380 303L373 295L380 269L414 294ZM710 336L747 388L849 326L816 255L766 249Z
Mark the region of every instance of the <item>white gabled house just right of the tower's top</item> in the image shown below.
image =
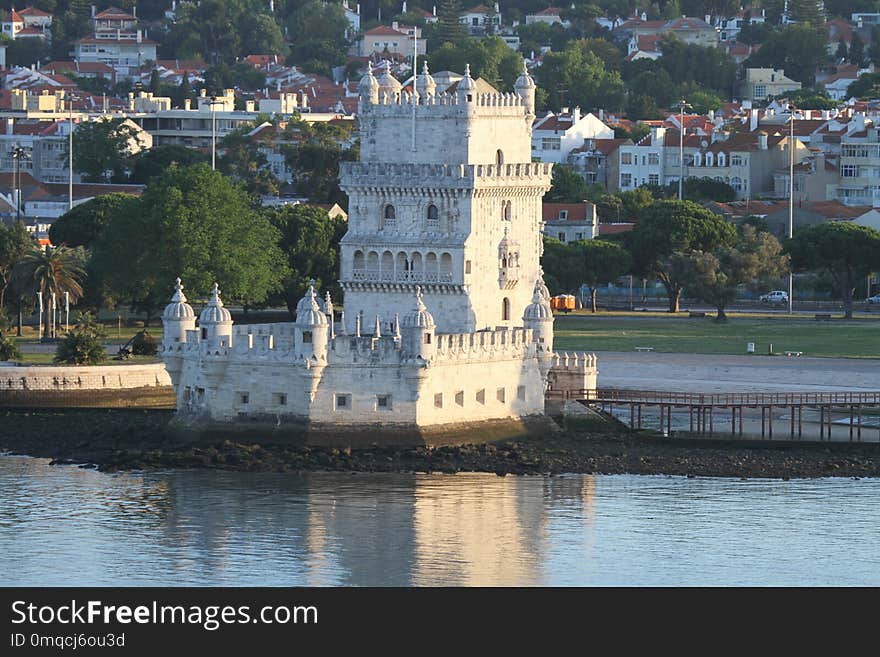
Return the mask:
M613 139L614 130L592 113L581 108L559 114L548 112L532 127L532 159L538 162L567 162L571 152L588 139Z

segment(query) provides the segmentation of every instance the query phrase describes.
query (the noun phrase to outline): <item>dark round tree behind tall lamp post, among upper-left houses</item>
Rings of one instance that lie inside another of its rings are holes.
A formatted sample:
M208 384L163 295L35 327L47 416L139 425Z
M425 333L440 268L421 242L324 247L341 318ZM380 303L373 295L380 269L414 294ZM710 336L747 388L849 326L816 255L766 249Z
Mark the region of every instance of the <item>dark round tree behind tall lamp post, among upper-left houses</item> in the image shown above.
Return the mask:
M76 126L73 168L86 182L123 181L142 141L127 119L101 119ZM65 158L66 159L66 158Z

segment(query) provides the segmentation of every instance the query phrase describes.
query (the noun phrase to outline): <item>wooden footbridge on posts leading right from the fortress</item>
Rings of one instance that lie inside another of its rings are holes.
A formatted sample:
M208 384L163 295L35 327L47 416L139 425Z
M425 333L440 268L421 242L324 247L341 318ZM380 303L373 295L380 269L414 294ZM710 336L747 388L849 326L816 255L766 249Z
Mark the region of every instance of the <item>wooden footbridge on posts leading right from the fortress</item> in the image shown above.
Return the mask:
M818 421L808 420L809 425L818 424L818 439L834 438L850 442L866 440L880 441L880 420L876 424L865 425L866 411L874 411L871 416L880 415L880 392L728 392L728 393L690 393L663 392L656 390L621 390L599 388L597 390L549 391L548 399L571 399L585 405L595 405L603 410L620 413L629 410L631 429L642 429L642 416L645 409L657 409L660 416L660 430L666 435L673 431L673 416L681 419L687 414L689 433L701 436L716 434L726 436L753 435L745 432L746 423L757 423L760 414L760 436L773 440L788 437L790 440L813 440L804 437L804 409L818 414ZM721 411L722 413L719 413ZM744 415L745 412L745 415ZM787 412L786 419L774 413ZM729 416L729 417L726 417ZM834 419L849 418L843 426L834 427ZM840 432L844 432L841 435ZM876 433L875 433L876 432ZM812 431L809 433L813 433Z

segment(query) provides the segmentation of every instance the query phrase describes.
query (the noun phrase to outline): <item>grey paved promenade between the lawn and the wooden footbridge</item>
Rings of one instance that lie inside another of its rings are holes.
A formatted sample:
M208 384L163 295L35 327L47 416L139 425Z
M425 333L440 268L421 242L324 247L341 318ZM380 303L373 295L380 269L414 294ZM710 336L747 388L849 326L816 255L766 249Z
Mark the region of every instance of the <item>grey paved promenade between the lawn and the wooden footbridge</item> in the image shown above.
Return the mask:
M878 391L880 358L596 352L599 387L678 392Z

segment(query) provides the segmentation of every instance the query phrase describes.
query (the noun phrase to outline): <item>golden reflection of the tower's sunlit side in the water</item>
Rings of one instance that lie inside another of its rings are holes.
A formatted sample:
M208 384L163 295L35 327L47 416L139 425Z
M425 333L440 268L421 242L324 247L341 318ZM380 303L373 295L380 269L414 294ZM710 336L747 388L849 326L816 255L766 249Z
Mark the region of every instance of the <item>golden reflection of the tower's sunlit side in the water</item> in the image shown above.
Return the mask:
M537 478L418 477L413 584L539 584L542 497Z

